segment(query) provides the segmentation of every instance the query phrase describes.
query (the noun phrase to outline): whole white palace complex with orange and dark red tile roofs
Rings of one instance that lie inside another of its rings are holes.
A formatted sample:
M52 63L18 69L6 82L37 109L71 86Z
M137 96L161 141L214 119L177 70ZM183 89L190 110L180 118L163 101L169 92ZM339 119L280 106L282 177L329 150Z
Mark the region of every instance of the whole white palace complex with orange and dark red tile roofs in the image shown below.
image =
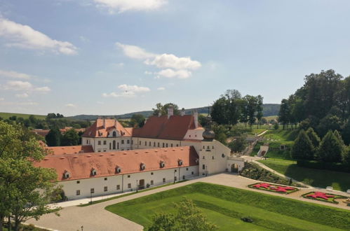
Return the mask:
M46 147L37 167L53 168L69 199L123 193L163 183L237 172L244 160L214 139L198 113L151 116L141 128L99 118L82 136L82 146Z

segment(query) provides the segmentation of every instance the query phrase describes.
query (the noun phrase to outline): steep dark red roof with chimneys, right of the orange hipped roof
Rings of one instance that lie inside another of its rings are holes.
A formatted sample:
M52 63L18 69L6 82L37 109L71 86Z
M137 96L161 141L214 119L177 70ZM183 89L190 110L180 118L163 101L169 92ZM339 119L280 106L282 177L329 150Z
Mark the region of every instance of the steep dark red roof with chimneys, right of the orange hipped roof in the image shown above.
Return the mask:
M194 116L151 116L141 128L133 130L133 137L182 140L188 130L196 129Z

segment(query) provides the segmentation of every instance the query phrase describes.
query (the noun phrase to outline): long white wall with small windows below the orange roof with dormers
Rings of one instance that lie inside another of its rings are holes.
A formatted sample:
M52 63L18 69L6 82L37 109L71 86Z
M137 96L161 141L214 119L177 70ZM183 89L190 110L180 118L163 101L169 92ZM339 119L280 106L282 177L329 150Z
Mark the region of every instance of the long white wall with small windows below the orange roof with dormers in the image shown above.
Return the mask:
M69 200L123 193L136 190L137 185L143 184L144 188L159 186L198 176L198 166L177 167L173 169L161 169L156 171L137 172L133 174L117 174L114 176L97 176L88 179L60 181L65 196ZM142 182L143 180L143 182ZM106 188L107 187L107 188ZM91 193L93 190L93 193Z

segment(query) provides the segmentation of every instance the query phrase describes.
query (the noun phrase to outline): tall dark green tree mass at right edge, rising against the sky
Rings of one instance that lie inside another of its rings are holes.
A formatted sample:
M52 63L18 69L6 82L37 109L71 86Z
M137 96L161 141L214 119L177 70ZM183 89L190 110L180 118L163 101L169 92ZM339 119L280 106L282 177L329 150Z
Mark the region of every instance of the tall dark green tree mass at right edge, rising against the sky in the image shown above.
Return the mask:
M283 129L312 127L320 137L337 130L350 144L350 76L344 78L332 69L305 76L304 85L282 99L278 122Z

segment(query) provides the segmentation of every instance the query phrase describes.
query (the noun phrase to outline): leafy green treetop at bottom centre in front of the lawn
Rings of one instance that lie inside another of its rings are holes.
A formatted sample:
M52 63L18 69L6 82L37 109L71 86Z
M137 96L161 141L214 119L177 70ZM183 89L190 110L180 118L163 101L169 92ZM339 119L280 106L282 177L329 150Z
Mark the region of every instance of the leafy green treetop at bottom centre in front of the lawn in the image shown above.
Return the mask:
M156 214L153 223L146 230L149 231L210 231L217 226L209 223L203 212L196 207L191 200L184 198L179 204L175 204L175 214Z

